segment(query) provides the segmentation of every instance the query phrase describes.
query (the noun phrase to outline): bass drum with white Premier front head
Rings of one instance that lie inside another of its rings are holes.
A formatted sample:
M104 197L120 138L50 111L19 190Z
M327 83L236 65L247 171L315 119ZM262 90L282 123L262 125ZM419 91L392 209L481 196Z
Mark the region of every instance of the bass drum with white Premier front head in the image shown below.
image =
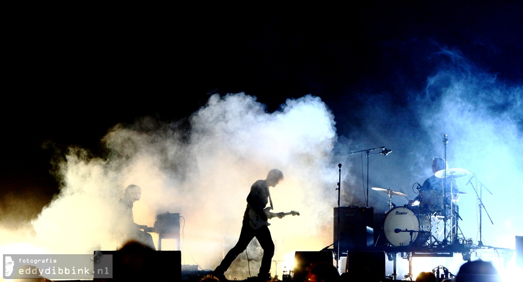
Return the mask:
M430 216L417 215L407 207L389 210L383 221L385 239L393 246L423 245L430 239L431 229Z

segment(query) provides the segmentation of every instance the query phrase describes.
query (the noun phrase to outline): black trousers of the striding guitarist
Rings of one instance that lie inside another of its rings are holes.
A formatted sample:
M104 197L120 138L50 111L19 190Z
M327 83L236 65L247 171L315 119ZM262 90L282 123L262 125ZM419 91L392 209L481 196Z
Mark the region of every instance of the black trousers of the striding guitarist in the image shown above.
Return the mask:
M255 237L263 249L263 257L261 258L261 265L258 275L268 275L272 262L272 256L274 256L274 242L272 242L269 228L264 225L258 229L253 229L246 221L243 222L240 239L238 239L236 245L225 255L222 262L214 270L214 272L224 273L227 271L234 259L247 248L249 242L251 242L251 240L253 240Z

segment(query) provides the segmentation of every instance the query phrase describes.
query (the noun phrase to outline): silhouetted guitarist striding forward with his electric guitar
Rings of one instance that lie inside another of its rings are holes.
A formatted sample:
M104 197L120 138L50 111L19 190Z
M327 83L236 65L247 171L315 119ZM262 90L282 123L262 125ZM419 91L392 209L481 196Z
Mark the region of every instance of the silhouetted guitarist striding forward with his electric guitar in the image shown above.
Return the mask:
M270 213L272 209L272 200L270 199L269 187L275 187L283 180L283 173L278 169L272 169L267 174L267 179L258 180L251 186L251 192L247 195L247 207L243 215L242 231L240 232L240 239L236 245L225 255L222 262L216 269L214 269L214 276L218 277L220 281L226 281L224 272L227 271L236 256L241 254L249 242L256 237L261 248L263 249L263 257L261 258L261 265L258 273L259 281L268 281L270 277L270 265L272 256L274 256L274 242L270 236L267 220L269 217L277 216L282 218L285 213ZM270 207L265 207L270 201ZM291 212L292 213L292 212ZM288 214L291 214L288 213ZM293 212L299 215L297 212Z

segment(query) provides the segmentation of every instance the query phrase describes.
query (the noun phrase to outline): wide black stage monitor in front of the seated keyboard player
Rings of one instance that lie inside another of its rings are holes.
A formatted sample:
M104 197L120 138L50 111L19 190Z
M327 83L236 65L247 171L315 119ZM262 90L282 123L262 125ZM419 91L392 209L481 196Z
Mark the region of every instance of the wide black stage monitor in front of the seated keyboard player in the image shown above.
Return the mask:
M153 251L140 246L119 251L101 251L100 258L112 255L112 279L120 281L178 281L181 279L181 251ZM95 278L97 274L95 273Z

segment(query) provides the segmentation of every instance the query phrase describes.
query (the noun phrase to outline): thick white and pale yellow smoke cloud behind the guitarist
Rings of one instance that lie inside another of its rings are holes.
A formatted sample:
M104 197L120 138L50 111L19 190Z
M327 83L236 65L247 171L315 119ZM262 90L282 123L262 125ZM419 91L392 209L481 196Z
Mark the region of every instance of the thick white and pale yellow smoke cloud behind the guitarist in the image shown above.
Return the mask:
M176 121L161 124L150 117L117 125L103 139L104 157L71 148L60 164L60 194L32 222L35 248L47 253L119 248L112 208L124 187L137 184L142 198L134 203L135 222L153 226L156 214L179 213L183 264L213 269L237 241L251 184L272 168L285 175L271 189L275 211L301 213L272 220L275 259L332 243L336 171L329 166L336 128L320 98L289 99L280 111L267 113L244 93L213 95L188 122L188 132ZM261 251L248 255L256 264Z

